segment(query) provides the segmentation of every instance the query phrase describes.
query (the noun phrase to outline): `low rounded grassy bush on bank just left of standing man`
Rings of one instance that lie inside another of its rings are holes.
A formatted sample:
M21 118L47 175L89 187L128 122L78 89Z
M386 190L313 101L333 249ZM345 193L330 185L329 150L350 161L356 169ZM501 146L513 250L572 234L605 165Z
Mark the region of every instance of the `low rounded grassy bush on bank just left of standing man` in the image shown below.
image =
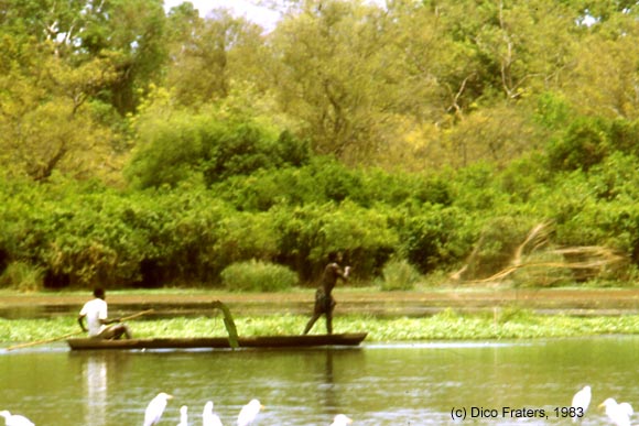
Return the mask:
M297 275L285 266L250 260L221 271L223 285L230 291L279 292L297 284Z

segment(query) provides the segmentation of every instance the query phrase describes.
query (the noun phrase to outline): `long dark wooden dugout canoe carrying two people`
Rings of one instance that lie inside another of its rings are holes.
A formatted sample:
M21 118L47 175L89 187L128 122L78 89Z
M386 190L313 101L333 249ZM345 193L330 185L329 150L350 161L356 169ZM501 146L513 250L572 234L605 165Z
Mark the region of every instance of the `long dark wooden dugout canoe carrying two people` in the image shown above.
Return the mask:
M315 347L355 347L366 339L366 332L338 335L301 335L301 336L256 336L238 337L239 348L315 348ZM229 349L226 337L193 338L153 338L100 340L77 338L66 340L72 350L91 349Z

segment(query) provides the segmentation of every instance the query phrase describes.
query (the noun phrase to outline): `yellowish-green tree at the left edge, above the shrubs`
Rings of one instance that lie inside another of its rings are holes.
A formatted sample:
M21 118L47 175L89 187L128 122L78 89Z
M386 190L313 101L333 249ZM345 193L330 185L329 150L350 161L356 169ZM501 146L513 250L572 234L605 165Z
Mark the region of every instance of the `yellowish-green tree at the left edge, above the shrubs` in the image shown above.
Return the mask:
M32 48L33 68L0 76L0 164L34 181L56 171L77 177L110 173L115 135L87 99L115 78L112 67L96 59L73 68Z

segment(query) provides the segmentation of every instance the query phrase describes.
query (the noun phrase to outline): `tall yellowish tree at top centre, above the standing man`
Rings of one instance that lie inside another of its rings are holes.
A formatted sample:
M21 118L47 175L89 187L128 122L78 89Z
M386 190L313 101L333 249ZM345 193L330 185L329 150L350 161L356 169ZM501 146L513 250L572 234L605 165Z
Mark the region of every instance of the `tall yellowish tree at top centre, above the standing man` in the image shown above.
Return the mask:
M397 51L386 11L360 1L304 1L270 40L279 105L314 150L349 162L375 152L393 118Z

